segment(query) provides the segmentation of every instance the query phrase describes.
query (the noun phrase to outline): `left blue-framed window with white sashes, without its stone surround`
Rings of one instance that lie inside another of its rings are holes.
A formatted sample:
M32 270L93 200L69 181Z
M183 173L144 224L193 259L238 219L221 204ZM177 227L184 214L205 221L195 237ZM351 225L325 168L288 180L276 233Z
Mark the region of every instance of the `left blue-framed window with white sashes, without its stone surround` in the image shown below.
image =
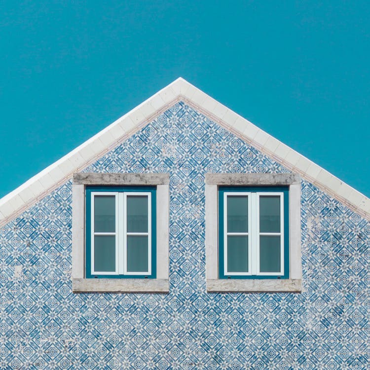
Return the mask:
M156 277L155 204L155 186L86 186L86 278Z

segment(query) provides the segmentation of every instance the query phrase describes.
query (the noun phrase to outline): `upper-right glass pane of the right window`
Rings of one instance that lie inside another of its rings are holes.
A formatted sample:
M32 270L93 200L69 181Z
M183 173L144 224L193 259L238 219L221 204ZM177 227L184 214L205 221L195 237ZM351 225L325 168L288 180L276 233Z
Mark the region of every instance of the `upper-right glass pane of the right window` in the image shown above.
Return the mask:
M280 196L259 196L259 232L280 232Z

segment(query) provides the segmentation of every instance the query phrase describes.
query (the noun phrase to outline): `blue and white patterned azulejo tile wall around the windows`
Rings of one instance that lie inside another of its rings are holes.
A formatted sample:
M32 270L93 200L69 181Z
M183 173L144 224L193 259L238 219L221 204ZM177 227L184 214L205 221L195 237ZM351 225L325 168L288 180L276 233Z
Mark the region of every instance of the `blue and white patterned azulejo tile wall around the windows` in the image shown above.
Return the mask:
M182 102L86 171L170 173L170 293L72 293L68 182L0 230L0 369L370 369L369 221L302 181L302 294L207 294L204 174L288 171Z

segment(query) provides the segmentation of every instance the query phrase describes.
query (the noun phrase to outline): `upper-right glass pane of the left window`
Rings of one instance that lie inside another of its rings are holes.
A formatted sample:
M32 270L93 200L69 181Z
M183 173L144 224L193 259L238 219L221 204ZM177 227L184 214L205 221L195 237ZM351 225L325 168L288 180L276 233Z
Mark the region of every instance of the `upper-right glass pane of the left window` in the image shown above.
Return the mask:
M148 195L127 196L127 232L148 232Z

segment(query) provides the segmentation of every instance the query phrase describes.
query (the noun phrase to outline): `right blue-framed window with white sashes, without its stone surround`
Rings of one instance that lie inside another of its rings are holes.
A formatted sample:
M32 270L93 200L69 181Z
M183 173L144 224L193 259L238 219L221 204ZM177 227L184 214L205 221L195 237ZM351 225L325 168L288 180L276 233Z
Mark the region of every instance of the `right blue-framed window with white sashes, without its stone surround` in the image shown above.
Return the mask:
M289 279L288 186L219 186L219 278Z

